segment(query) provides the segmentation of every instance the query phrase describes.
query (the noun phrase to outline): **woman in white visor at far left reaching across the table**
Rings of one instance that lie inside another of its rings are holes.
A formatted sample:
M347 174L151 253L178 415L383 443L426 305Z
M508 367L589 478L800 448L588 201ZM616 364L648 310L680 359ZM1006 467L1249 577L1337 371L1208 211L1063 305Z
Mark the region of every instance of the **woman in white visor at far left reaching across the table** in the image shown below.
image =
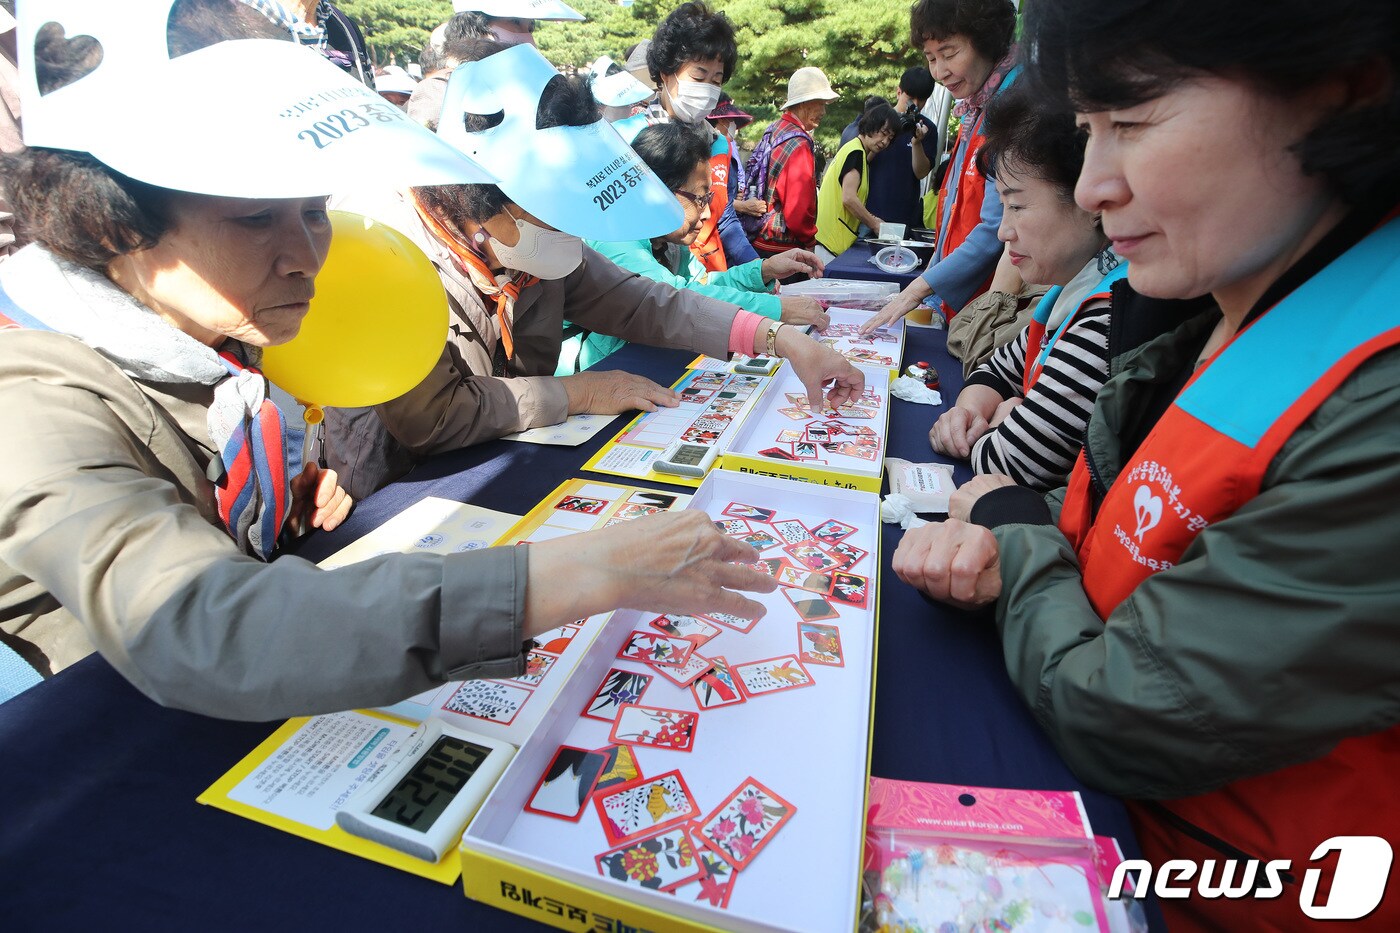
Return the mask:
M151 22L153 4L137 7L123 28L167 28L164 10ZM339 570L272 560L284 532L332 527L350 502L335 472L312 466L288 482L281 415L253 367L308 311L330 240L318 186L384 170L353 147L304 153L295 127L277 122L279 101L396 111L259 21L232 0L178 0L175 57L153 74L178 63L214 109L252 113L238 105L253 95L266 104L262 123L206 137L178 125L179 106L140 108L125 127L160 146L116 147L119 172L88 151L106 144L101 120L62 140L35 120L29 148L6 158L35 242L0 265L3 314L15 324L0 331L0 436L11 438L0 471L4 640L45 674L97 649L162 705L260 720L515 677L528 639L619 607L762 614L743 591L774 581L743 566L753 549L700 513ZM35 25L21 13L21 42L38 32L38 87L69 84L73 116L111 106L97 42L119 56L123 36L69 42L64 24ZM221 42L245 38L256 41ZM45 104L25 99L25 111ZM399 118L360 132L385 134L409 181L424 165L434 178L480 177ZM213 158L216 147L238 158ZM305 171L288 174L284 160L298 154ZM176 172L185 189L161 185Z

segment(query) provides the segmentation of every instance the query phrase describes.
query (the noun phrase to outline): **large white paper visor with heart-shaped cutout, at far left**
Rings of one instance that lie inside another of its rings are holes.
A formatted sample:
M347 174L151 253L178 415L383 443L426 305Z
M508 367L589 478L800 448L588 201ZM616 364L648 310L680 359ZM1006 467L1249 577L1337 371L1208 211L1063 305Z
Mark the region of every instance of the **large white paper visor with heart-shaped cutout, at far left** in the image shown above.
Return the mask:
M17 35L27 146L90 153L161 188L225 198L315 198L367 178L396 185L493 182L309 48L237 39L171 59L174 0L21 3ZM101 63L39 94L35 38L48 24L91 36ZM132 88L160 88L122 105Z

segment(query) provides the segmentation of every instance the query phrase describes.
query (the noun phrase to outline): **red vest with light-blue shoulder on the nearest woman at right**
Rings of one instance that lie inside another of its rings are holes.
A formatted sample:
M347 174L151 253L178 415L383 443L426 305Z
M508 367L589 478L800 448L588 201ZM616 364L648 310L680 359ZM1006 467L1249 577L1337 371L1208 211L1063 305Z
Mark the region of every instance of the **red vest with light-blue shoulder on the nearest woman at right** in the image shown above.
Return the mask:
M1254 499L1268 465L1299 424L1357 367L1400 345L1397 294L1400 221L1392 221L1211 357L1124 464L1096 516L1085 454L1079 454L1060 528L1079 556L1084 590L1099 618L1107 619L1140 583L1170 570L1204 528ZM1273 378L1261 380L1261 374ZM1175 623L1229 625L1229 619L1208 618L1208 600L1203 594L1201 614ZM1316 761L1162 801L1165 814L1155 806L1130 808L1154 866L1168 859L1219 864L1231 857L1193 835L1198 829L1245 853L1236 857L1289 859L1298 881L1308 867L1322 867L1323 884L1312 898L1320 905L1331 864L1310 866L1319 843L1343 835L1379 835L1392 846L1400 841L1397 768L1400 727L1392 727L1344 738ZM1380 906L1365 918L1366 929L1400 929L1397 874L1392 873ZM1285 885L1273 899L1193 895L1161 904L1173 930L1298 929L1310 923L1299 909L1299 888Z

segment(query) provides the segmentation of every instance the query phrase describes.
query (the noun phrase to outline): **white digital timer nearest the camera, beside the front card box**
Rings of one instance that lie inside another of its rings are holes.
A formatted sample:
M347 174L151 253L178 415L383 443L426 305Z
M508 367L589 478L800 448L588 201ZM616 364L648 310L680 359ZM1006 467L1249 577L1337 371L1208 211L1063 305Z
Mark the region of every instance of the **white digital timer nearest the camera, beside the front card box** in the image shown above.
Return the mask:
M456 843L515 748L430 719L336 814L346 832L438 862ZM388 789L388 790L386 790Z

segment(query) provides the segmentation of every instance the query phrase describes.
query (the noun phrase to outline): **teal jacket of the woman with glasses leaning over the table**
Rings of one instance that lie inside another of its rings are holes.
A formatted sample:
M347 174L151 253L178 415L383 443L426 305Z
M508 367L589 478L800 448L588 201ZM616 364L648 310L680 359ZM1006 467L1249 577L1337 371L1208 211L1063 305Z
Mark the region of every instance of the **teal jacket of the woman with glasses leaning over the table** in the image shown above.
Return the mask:
M585 240L584 242L627 272L636 272L652 282L668 284L672 289L699 291L710 298L736 304L746 311L762 314L774 321L783 315L778 297L769 291L769 286L763 284L763 262L760 259L734 266L727 272L708 272L685 247L671 249L675 268L668 268L651 254L650 240L617 242ZM554 375L573 375L580 370L587 370L605 356L616 353L626 343L620 338L584 331L564 321L564 345L559 352L559 368L554 370Z

